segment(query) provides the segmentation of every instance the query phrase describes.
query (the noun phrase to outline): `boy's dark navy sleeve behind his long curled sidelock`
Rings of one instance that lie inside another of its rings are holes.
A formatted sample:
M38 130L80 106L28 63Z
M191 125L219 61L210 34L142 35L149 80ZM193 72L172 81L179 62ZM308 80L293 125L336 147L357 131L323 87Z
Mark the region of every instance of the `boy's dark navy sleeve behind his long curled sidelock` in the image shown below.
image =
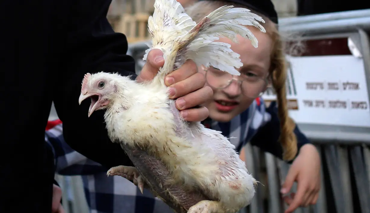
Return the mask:
M259 147L265 152L270 152L276 157L283 158L283 148L279 143L280 121L277 116L276 102L272 102L266 112L271 115L271 120L265 126L259 128L258 132L250 140L251 145ZM294 129L297 137L298 150L305 144L310 143L307 137L299 130L298 126ZM290 161L292 162L292 161Z

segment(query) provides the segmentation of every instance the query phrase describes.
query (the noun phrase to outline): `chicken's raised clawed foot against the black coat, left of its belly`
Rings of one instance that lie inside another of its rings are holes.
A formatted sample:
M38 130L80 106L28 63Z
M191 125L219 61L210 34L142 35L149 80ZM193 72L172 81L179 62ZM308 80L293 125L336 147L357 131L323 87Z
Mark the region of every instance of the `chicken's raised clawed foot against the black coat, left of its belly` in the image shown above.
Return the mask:
M134 182L134 184L139 187L140 192L143 193L144 180L134 166L114 166L107 172L107 176L110 175L120 175L122 178Z

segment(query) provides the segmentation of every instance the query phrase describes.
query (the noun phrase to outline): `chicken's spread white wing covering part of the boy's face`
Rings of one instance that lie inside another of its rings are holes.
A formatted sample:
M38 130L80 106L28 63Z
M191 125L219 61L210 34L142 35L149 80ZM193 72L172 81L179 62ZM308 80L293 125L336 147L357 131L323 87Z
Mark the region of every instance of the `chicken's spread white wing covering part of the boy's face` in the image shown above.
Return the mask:
M262 17L251 13L246 8L223 6L212 11L206 18L206 23L196 39L186 47L186 58L192 59L197 65L213 66L232 75L240 75L235 68L240 68L240 55L230 49L230 45L223 42L213 42L219 37L226 37L238 43L236 35L241 35L258 47L258 41L253 33L243 25L253 25L260 31L266 32L258 21L265 23ZM201 48L196 48L201 47ZM208 56L208 57L207 57Z

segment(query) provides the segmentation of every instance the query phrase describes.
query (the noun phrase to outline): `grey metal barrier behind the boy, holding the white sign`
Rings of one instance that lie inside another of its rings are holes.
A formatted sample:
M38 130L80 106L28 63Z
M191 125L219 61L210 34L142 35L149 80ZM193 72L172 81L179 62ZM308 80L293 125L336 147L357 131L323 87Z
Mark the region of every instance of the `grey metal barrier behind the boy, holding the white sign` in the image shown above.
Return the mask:
M338 37L354 39L362 54L359 60L363 61L365 72L366 85L363 86L367 87L366 92L370 94L370 39L366 32L370 30L370 10L281 18L279 23L279 31L299 33L306 40ZM128 54L137 62L137 73L144 65L142 56L147 48L144 42L129 45ZM369 95L366 102L368 110ZM295 116L297 115L293 113L293 119L299 120ZM297 124L319 150L322 158L322 188L316 205L299 208L295 212L370 213L370 125L356 127L300 122ZM250 144L246 145L245 156L249 171L264 186L257 189L251 205L241 212L282 213L284 204L280 198L280 185L281 180L285 179L289 165L269 153L261 153ZM264 180L265 175L267 179ZM293 190L295 187L293 186Z

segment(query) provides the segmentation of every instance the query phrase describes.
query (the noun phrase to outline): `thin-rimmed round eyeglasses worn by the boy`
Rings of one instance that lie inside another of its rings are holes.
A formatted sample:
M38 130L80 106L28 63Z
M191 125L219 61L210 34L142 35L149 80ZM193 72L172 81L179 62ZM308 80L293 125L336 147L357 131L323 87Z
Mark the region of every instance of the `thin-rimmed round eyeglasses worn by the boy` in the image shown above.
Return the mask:
M234 76L213 66L208 68L202 66L202 69L206 72L206 82L209 86L214 89L225 89L235 80L240 85L243 95L251 99L262 95L262 90L269 83L267 78L262 78L252 73L240 73L240 76Z

